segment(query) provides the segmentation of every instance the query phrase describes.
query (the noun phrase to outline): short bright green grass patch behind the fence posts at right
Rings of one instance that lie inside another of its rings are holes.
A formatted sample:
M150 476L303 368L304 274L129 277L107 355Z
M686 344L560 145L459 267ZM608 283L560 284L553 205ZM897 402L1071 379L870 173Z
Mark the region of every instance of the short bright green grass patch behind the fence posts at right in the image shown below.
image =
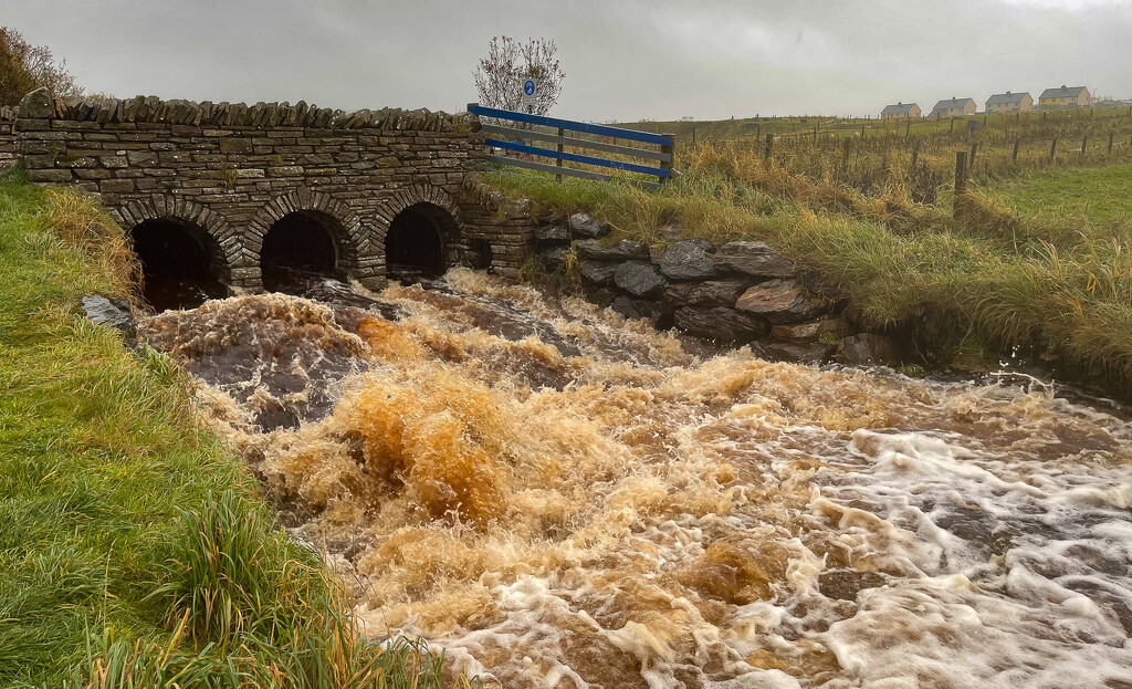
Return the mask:
M995 192L1031 218L1084 219L1096 224L1132 222L1132 164L1034 172Z

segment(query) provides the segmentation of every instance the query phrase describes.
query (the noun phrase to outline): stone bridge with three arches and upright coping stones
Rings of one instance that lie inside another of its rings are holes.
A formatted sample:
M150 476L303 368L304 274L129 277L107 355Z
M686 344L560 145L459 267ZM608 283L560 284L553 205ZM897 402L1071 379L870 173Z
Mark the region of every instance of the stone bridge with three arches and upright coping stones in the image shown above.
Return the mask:
M265 266L291 261L377 289L391 264L514 274L526 258L530 219L500 214L479 190L478 129L473 116L423 109L60 101L41 90L0 110L0 167L18 160L32 181L97 194L147 275L206 272L258 291Z

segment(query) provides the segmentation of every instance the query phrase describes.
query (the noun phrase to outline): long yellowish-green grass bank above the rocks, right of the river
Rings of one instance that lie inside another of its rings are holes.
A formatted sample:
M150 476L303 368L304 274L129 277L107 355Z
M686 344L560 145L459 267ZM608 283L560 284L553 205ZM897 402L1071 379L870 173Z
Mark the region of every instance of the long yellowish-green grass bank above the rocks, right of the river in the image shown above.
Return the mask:
M683 175L659 193L496 171L489 184L549 213L588 211L616 236L649 244L657 228L685 237L761 239L821 271L865 324L902 329L944 359L1014 346L1132 382L1132 258L1127 228L1081 232L975 192L961 220L892 184L865 195L827 177L792 173L743 146L685 147Z

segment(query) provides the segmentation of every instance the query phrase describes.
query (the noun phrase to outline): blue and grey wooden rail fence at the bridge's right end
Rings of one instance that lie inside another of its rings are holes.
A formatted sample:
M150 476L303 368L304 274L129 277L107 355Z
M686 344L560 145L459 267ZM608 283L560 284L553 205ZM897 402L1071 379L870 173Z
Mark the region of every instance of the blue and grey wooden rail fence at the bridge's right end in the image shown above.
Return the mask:
M606 125L593 125L590 122L577 122L574 120L542 117L539 114L529 114L512 110L498 110L496 108L484 108L478 103L469 103L468 111L478 117L495 118L496 120L507 120L534 127L550 127L557 130L556 134L551 134L549 131L537 130L533 128L521 129L499 125L483 125L483 131L488 135L488 137L483 139L483 145L490 146L492 150L511 151L513 153L548 158L555 161L554 164L550 164L534 160L526 160L524 158L489 155L488 160L494 163L550 172L556 175L559 181L561 181L561 176L564 175L567 177L580 177L582 179L595 179L600 181L609 181L612 179L612 177L602 172L563 167L564 162L593 165L598 168L609 168L612 170L623 170L626 172L636 172L640 175L655 177L657 181L638 180L642 185L654 189L660 188L660 185L670 179L672 176L672 147L675 139L670 135L653 134L651 131L637 131L636 129L621 129L619 127L608 127ZM615 141L620 139L637 144L648 144L658 146L659 150L640 148L636 146L625 146L615 143L584 139L576 136L566 136L567 131L601 136ZM525 143L526 141L532 143L528 144ZM555 147L547 148L543 146L535 146L533 145L533 142L555 144ZM653 167L650 164L599 158L597 155L569 153L565 151L566 147L616 153L618 155L657 161L658 164Z

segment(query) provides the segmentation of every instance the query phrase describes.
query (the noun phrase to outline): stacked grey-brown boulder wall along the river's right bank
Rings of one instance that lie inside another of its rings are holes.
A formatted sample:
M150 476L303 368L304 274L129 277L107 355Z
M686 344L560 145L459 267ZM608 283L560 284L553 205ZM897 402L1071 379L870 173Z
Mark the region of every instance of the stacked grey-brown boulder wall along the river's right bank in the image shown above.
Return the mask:
M591 231L600 227L577 215L571 219L575 226ZM771 359L824 364L837 356L859 365L898 359L886 338L857 332L840 313L844 299L837 286L821 275L799 271L761 241L717 248L706 239L678 239L678 230L659 228L657 237L670 241L657 246L627 239L576 240L586 298L658 328L675 326L726 344L749 342ZM543 263L560 263L567 250L560 235L535 236L546 237L539 243Z

